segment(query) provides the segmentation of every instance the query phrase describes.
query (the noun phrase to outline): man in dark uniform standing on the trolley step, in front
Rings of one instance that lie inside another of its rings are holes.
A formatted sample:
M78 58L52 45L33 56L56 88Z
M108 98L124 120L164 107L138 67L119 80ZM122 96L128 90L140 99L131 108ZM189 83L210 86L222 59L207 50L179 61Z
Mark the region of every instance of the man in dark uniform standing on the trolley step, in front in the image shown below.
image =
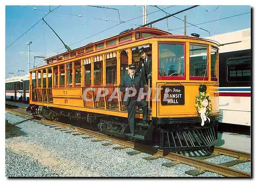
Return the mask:
M135 136L135 106L141 106L143 110L143 125L147 124L147 113L148 113L148 106L147 102L145 102L144 95L141 96L141 100L138 101L138 95L139 95L139 89L143 88L143 82L141 80L141 76L139 73L135 74L136 64L130 64L129 65L129 72L130 74L122 76L119 88L120 91L125 94L131 94L131 87L137 90L137 93L134 96L131 97L125 97L123 103L128 108L128 121L130 125L131 130L131 136ZM124 94L124 95L125 95ZM125 100L127 98L127 100Z

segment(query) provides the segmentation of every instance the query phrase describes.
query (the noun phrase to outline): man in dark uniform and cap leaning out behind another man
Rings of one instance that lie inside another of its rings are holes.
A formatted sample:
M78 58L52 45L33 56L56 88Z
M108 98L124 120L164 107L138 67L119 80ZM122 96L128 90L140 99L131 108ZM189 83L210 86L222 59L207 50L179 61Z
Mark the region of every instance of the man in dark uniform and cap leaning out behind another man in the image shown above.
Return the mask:
M152 63L151 56L148 56L144 47L139 49L140 63L136 72L139 72L141 69L141 79L144 85L148 85L148 79L151 79L152 75Z

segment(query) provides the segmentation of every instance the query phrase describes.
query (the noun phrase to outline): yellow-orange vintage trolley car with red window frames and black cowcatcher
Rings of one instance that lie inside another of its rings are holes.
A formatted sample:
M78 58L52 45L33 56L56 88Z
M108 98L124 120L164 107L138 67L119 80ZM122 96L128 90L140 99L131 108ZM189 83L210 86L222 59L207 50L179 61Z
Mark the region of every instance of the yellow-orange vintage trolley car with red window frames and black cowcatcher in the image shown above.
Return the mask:
M124 137L129 124L118 86L128 65L139 63L141 47L152 57L152 124L137 122L135 138L167 151L212 152L222 117L218 43L198 36L140 27L47 58L30 70L30 104L41 106L48 119L97 122L101 132ZM140 120L141 109L136 111Z

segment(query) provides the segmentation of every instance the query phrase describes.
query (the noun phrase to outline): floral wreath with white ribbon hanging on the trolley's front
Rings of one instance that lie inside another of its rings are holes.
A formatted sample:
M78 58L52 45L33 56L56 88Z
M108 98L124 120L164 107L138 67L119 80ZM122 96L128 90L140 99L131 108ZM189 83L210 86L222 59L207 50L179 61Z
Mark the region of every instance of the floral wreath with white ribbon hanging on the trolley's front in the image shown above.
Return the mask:
M206 93L205 85L199 86L199 96L196 96L195 107L202 119L201 126L204 125L204 121L206 121L207 119L210 122L210 118L208 118L207 115L212 110L212 102L211 102L210 94Z

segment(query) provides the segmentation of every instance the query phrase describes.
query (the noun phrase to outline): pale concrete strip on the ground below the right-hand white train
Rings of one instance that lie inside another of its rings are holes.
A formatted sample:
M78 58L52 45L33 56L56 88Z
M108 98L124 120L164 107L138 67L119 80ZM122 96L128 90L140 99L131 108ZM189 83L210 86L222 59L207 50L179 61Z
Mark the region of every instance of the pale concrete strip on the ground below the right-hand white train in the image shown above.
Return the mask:
M251 138L242 135L219 133L216 146L251 153Z

